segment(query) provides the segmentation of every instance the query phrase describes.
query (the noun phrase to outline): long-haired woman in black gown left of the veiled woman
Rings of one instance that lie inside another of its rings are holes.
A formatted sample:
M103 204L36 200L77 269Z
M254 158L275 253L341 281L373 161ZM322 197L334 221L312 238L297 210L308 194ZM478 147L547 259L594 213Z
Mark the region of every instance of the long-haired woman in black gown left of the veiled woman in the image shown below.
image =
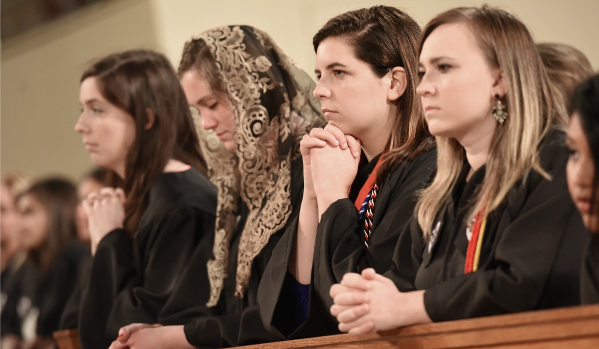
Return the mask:
M210 253L216 190L177 74L152 51L111 54L81 77L81 134L92 161L122 179L83 202L92 263L81 292L84 348L121 326L157 322L196 248Z

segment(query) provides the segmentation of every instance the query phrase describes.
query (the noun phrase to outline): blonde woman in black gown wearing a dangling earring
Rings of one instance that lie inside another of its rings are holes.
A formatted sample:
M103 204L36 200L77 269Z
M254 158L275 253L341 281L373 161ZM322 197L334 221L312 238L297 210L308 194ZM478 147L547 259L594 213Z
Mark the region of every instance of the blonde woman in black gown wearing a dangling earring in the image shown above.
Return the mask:
M455 8L420 43L418 93L438 162L411 229L416 277L402 271L404 241L390 279L344 276L331 288L340 329L579 303L586 236L566 188L566 117L527 28L505 11Z

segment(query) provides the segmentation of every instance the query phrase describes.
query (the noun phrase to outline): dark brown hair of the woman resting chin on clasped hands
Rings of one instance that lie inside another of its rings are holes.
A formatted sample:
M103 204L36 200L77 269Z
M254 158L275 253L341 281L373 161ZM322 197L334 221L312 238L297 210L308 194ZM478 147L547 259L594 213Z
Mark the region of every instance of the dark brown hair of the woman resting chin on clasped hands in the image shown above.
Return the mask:
M406 70L407 89L397 101L395 118L385 146L385 159L377 174L380 181L398 162L414 159L434 146L428 132L419 97L416 48L420 26L404 11L389 6L374 6L333 17L314 35L314 51L329 37L340 38L353 47L355 56L382 77L396 66Z

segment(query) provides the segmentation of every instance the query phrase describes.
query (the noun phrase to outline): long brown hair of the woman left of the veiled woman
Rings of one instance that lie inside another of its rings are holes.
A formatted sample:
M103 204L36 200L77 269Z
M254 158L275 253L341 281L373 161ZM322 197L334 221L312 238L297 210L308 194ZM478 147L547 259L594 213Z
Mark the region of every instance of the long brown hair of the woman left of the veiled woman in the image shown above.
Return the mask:
M135 139L125 163L125 229L133 235L147 207L152 181L164 171L168 160L189 163L205 173L198 135L183 89L173 66L162 54L132 50L99 60L81 81L95 77L108 102L135 121ZM146 129L149 113L152 128Z

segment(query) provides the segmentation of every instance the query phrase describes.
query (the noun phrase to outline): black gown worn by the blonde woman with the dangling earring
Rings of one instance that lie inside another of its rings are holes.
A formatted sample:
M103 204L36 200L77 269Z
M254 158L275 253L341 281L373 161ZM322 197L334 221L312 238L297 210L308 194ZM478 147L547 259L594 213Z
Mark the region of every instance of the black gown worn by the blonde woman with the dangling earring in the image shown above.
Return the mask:
M466 220L485 166L466 183L470 167L464 165L458 184L435 218L435 224L441 223L430 252L418 224L411 224L412 266L419 266L414 285L426 290L424 304L433 321L579 304L580 262L587 236L568 194L566 162L564 133L550 133L540 163L552 180L532 171L489 215L476 272L464 274ZM400 256L406 248L400 244L396 266L406 260ZM409 284L413 274L402 275L394 268L388 276L405 290L401 286Z

